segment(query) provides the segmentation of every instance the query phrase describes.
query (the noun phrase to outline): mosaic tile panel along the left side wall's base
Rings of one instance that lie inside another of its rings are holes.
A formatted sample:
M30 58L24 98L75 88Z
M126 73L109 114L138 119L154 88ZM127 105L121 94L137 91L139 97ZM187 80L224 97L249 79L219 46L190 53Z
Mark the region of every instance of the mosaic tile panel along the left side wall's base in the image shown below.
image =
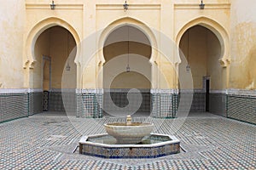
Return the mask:
M0 122L27 116L27 94L0 94Z

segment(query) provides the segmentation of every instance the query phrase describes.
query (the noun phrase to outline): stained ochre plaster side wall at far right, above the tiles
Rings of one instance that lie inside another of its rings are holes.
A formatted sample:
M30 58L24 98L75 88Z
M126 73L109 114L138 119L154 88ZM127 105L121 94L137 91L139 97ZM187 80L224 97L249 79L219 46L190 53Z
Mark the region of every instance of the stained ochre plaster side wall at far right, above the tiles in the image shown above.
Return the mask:
M256 89L256 3L231 2L230 88Z

